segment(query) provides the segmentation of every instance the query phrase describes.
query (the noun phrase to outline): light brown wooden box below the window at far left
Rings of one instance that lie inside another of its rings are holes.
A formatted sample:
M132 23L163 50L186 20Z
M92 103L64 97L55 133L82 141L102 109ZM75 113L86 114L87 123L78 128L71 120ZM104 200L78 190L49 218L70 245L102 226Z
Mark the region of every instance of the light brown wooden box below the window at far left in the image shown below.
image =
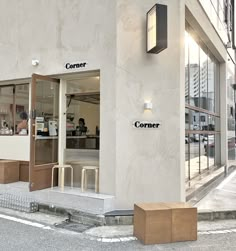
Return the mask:
M0 183L19 181L19 161L0 160Z

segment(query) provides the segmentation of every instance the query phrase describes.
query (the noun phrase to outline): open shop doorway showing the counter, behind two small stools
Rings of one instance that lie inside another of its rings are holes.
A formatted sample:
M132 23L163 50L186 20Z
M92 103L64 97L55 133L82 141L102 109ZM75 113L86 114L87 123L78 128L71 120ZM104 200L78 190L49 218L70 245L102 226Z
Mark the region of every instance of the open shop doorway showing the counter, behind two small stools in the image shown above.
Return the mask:
M84 166L99 168L100 149L100 72L84 72L66 81L65 162L73 167L74 189L81 192ZM88 170L88 191L95 191L95 172ZM66 170L65 185L70 186ZM81 190L80 190L81 189Z

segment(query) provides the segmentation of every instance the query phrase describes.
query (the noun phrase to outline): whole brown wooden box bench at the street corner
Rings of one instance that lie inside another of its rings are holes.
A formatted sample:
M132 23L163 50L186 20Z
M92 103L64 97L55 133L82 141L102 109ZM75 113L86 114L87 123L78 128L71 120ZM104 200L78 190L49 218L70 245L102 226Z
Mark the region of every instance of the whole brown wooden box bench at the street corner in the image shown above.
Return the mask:
M184 202L135 204L134 236L144 244L197 240L197 208Z

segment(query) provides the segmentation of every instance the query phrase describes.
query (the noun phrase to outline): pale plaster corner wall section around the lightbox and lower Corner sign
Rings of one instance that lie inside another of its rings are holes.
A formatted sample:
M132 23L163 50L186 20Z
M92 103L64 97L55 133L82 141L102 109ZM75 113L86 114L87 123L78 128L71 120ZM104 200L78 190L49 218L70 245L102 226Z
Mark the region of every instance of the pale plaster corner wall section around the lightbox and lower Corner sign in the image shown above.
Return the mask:
M183 201L184 1L158 2L168 5L168 48L160 54L146 53L145 14L156 1L117 3L117 206ZM143 110L146 99L151 112ZM135 120L161 126L135 129Z

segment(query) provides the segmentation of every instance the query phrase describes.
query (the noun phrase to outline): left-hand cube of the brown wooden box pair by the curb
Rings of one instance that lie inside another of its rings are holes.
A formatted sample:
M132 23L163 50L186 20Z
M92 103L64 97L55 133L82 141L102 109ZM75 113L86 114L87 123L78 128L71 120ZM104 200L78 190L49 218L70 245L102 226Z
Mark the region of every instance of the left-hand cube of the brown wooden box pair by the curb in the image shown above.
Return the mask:
M144 244L171 242L171 209L164 203L134 205L134 236Z

